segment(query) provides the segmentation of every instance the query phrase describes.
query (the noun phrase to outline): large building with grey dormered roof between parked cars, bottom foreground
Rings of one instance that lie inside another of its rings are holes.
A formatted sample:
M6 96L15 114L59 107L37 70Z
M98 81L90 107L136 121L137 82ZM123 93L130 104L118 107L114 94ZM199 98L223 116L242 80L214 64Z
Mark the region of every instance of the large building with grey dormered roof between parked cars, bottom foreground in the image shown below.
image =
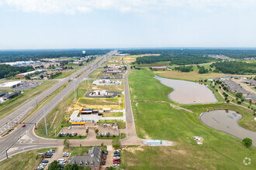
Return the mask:
M102 162L102 148L94 146L88 149L88 153L84 155L75 155L68 159L68 164L79 165L83 168L89 166L93 170L99 170Z

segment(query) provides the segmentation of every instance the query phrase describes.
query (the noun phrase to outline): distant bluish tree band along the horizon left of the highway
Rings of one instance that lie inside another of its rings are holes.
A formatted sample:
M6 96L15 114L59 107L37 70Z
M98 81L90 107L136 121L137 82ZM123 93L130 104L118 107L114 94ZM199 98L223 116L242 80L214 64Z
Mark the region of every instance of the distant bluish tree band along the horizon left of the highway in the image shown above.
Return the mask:
M84 49L36 49L36 50L1 50L0 63L38 60L43 58L59 58L61 56L92 56L109 53L111 49L85 49L86 53L81 51Z

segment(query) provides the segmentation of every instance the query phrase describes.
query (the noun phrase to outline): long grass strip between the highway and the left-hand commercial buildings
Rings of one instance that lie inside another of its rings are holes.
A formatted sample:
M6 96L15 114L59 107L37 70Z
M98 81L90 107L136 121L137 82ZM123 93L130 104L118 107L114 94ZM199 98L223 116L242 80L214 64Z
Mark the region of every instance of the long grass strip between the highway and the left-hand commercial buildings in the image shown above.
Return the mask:
M12 113L12 111L16 110L21 105L26 104L26 102L33 99L40 93L43 93L43 91L54 86L55 83L57 83L57 81L43 81L43 84L41 84L40 86L33 88L32 90L24 90L24 93L22 93L18 97L15 97L11 100L7 100L4 103L0 104L0 119Z

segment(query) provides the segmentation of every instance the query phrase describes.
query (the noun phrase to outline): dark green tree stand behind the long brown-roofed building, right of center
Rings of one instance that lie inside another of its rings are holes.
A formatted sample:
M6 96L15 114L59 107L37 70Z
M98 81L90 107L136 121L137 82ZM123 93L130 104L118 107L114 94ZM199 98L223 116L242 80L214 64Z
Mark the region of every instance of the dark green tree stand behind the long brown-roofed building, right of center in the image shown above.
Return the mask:
M198 55L170 55L170 54L161 54L161 56L141 56L136 59L135 63L138 64L150 64L157 63L161 61L170 61L171 65L186 65L186 64L199 64L199 63L209 63L214 61L208 56L198 56Z

